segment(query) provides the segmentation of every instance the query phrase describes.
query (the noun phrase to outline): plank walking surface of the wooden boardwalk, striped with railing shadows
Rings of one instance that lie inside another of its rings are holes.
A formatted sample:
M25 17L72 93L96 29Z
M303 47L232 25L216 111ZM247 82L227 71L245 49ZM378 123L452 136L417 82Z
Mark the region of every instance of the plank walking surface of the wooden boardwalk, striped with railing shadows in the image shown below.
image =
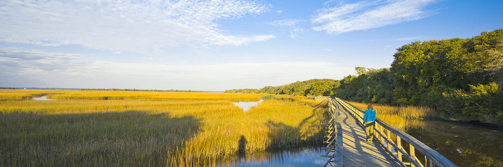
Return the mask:
M336 102L343 128L344 166L402 166L374 137L366 140L365 128L340 103Z

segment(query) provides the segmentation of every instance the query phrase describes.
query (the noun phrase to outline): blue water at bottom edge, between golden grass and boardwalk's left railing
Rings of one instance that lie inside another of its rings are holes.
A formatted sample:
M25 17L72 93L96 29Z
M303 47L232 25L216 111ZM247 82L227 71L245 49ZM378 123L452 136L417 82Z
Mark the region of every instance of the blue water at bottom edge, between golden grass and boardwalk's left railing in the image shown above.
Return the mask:
M316 146L238 153L218 166L323 166L328 158L319 157L320 153L320 147Z

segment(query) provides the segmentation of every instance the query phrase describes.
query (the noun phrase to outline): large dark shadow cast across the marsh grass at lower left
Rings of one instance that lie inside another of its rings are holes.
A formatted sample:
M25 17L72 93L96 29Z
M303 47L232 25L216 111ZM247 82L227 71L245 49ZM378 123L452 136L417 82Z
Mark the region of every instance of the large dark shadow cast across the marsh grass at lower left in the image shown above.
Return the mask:
M166 165L200 120L169 113L0 113L0 166Z

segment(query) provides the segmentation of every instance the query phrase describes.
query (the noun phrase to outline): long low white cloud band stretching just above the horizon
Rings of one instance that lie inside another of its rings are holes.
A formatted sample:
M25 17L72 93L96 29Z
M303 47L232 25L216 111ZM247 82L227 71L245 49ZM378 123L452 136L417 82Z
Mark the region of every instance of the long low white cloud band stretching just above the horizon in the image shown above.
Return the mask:
M224 90L327 76L338 79L353 72L337 63L315 61L169 65L113 62L82 54L0 51L0 78L6 78L0 79L0 85L12 86Z

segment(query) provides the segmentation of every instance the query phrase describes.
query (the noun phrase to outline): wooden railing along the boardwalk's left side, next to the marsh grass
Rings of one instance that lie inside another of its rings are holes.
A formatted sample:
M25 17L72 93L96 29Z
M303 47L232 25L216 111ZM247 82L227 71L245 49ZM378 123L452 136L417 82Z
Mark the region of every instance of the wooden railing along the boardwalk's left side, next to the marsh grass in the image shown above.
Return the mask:
M326 146L324 150L327 150L325 154L321 154L321 157L328 157L324 166L330 164L331 166L343 166L343 128L339 123L339 112L336 109L332 99L328 100L328 115L330 120L328 120L326 127L326 141L324 141Z

